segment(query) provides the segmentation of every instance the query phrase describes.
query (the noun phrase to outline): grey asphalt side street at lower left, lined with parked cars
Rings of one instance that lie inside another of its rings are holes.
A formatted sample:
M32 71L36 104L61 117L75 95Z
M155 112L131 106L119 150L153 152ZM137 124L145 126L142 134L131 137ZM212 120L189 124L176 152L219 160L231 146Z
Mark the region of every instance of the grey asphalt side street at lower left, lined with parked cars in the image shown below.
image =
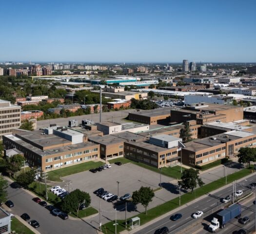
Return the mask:
M32 201L35 196L28 194L23 189L9 186L7 192L8 199L14 203L14 207L10 208L9 212L19 216L27 213L31 219L36 219L40 224L37 230L41 234L74 233L74 230L76 230L76 234L96 234L96 229L83 220L62 220L51 215L47 209Z

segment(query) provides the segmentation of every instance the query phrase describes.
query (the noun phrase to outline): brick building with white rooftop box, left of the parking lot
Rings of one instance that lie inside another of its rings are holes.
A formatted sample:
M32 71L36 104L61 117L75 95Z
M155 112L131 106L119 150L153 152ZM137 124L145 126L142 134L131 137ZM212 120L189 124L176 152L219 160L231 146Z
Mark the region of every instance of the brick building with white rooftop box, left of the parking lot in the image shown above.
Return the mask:
M4 136L3 145L5 150L18 149L30 166L43 171L97 160L99 157L99 144L86 141L80 132L59 126Z

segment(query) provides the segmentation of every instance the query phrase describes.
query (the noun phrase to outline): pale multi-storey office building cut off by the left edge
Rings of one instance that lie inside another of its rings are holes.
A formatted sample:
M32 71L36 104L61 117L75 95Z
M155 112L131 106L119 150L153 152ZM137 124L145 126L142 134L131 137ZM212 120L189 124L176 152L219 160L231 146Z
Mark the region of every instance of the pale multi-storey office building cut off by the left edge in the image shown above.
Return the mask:
M4 135L12 133L12 129L20 128L20 106L0 99L0 140Z

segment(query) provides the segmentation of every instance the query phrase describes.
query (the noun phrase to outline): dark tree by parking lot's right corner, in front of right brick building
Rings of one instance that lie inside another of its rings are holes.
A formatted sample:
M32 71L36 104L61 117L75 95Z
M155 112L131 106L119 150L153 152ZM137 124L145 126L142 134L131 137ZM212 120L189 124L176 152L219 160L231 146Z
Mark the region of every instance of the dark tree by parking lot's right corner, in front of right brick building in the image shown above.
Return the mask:
M199 170L193 168L185 169L182 173L181 180L178 181L178 186L183 189L191 189L191 193L197 187L202 187L204 182L199 178Z

